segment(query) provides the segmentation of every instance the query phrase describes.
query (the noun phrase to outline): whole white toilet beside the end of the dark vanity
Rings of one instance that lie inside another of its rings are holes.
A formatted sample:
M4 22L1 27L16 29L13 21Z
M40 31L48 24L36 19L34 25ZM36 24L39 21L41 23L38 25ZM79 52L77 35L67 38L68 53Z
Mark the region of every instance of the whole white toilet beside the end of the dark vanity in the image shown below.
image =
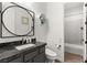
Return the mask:
M45 48L45 54L46 54L47 59L50 59L50 62L52 63L55 62L57 57L57 54L55 52L53 52L51 48Z

